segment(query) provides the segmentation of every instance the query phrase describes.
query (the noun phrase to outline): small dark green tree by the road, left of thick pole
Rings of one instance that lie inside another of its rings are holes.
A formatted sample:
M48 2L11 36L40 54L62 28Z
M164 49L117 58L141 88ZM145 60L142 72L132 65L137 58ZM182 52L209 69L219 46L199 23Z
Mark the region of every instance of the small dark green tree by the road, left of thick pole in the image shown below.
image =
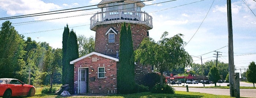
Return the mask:
M209 80L211 80L212 82L214 82L215 87L216 87L216 83L218 82L218 80L220 80L220 75L219 75L219 71L215 66L212 66L209 73Z

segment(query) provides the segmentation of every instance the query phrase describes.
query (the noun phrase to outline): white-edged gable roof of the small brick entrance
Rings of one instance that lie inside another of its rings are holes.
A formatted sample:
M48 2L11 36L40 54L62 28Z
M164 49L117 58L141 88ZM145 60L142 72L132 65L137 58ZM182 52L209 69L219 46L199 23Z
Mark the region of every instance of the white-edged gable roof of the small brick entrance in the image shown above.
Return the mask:
M111 56L107 56L107 55L104 55L104 54L101 54L101 53L97 53L97 52L91 52L89 54L86 54L85 56L82 56L82 57L79 57L78 59L75 59L73 61L70 61L70 64L74 64L75 62L79 61L79 60L82 60L86 57L89 57L89 56L92 56L93 54L97 55L97 56L101 56L101 57L105 57L107 59L111 59L111 60L115 60L115 61L119 61L119 59L115 58L115 57L111 57Z

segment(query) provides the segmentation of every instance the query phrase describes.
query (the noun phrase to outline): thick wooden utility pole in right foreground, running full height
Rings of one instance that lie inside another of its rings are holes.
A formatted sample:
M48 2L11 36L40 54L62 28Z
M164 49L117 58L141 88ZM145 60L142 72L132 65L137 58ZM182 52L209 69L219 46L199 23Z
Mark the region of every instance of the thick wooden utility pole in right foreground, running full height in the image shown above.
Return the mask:
M235 97L235 68L234 68L234 50L233 50L233 29L232 29L232 14L231 14L231 0L227 0L227 23L228 23L228 43L229 43L229 90L230 97ZM238 88L239 89L239 88Z

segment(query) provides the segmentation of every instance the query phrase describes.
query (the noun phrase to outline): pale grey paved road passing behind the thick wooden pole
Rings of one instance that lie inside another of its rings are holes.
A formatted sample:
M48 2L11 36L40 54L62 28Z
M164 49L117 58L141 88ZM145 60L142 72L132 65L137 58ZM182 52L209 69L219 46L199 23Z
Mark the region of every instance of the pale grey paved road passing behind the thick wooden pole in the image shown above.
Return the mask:
M216 85L220 86L227 86L229 83L217 83ZM181 87L174 87L177 91L186 91L185 87L182 87L182 84L174 84L171 86L181 86ZM201 86L203 87L202 83L199 84L186 84L189 86ZM214 84L205 84L205 86L214 86ZM253 87L252 83L240 82L240 86L246 87ZM200 93L208 93L208 94L215 94L215 95L230 95L229 89L219 89L219 88L189 88L190 92L200 92ZM256 89L240 89L240 97L251 97L256 98Z

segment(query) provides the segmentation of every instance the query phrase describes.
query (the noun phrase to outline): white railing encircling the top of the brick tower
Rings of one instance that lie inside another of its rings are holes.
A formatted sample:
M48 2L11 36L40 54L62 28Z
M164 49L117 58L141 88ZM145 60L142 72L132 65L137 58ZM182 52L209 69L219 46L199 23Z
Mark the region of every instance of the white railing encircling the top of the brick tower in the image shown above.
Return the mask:
M118 23L130 22L141 23L153 28L152 16L146 12L137 11L111 11L111 12L98 12L90 18L90 29L98 24L105 23Z

